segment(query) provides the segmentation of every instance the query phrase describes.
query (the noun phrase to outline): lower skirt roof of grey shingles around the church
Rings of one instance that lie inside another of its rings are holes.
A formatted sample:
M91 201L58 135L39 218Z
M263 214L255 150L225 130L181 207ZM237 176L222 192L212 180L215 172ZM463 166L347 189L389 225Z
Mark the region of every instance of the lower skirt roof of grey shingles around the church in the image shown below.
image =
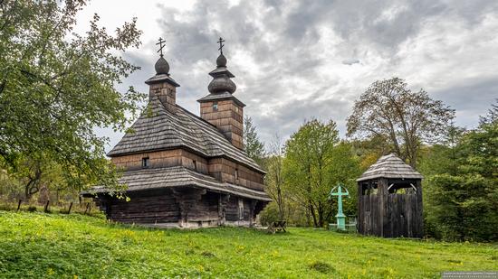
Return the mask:
M235 194L254 200L272 200L264 191L255 191L234 184L220 182L214 177L194 172L183 166L123 172L123 176L120 178L120 184L128 185L127 191L194 186L211 191ZM108 190L103 187L95 187L91 191L85 192L83 195L94 195L102 192L108 192Z

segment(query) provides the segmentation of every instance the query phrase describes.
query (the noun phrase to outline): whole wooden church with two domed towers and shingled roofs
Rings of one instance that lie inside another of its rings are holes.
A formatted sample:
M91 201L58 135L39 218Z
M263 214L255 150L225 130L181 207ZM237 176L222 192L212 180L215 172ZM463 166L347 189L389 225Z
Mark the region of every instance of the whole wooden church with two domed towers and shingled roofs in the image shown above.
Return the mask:
M148 107L108 153L122 169L129 201L106 189L93 197L108 219L198 228L252 226L271 201L263 190L265 172L244 152L244 103L235 98L235 76L220 55L209 75L209 94L200 98L200 117L177 105L179 84L162 51L149 86ZM162 49L162 42L161 49Z

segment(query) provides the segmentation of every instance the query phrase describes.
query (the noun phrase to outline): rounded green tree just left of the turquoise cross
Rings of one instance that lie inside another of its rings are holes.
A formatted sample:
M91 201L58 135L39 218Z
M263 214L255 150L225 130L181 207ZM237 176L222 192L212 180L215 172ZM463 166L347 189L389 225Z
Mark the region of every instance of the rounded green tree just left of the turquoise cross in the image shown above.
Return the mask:
M329 199L331 188L337 183L351 185L359 174L353 156L349 144L340 144L332 120L306 122L285 144L285 187L292 200L307 210L316 228L323 227L336 208L335 200Z

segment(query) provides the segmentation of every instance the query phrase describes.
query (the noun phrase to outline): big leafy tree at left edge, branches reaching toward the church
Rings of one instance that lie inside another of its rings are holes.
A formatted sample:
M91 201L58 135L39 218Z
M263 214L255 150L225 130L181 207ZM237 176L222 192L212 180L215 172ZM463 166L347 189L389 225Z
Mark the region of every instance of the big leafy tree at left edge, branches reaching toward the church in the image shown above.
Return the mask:
M62 167L70 185L115 186L108 139L93 129L121 130L139 109L141 94L114 85L139 69L118 53L138 47L140 32L133 19L110 35L95 14L87 33L72 33L84 5L0 1L0 161L15 171L16 163L43 157Z

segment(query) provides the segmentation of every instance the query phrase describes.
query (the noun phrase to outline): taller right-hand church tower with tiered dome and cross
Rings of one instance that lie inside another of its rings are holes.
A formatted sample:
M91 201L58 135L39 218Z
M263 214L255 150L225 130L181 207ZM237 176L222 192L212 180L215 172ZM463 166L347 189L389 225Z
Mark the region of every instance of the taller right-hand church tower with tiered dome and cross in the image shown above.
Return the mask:
M245 105L233 95L236 86L232 78L235 76L226 69L226 58L223 55L225 41L220 38L218 42L220 55L216 59L216 69L209 73L213 77L207 87L209 94L197 101L200 103L201 117L216 126L235 147L244 149L242 136Z

